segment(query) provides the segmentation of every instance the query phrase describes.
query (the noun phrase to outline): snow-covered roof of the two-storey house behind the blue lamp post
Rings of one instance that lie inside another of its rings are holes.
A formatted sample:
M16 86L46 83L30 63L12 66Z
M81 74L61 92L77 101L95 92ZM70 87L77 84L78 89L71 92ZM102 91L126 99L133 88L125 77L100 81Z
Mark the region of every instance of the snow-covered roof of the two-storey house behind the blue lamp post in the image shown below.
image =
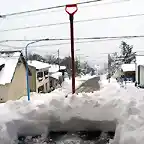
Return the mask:
M44 63L44 62L40 62L40 61L36 61L36 60L28 61L28 65L33 66L36 69L44 69L44 68L50 67L50 65L48 63Z

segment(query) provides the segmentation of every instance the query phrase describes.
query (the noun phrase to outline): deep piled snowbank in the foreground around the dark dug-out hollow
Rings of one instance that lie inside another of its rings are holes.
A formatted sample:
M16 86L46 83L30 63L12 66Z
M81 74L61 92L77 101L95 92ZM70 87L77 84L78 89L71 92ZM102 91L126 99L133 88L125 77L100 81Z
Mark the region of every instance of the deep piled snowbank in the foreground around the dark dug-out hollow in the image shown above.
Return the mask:
M79 82L81 83L81 82ZM144 141L144 90L128 84L120 88L102 77L101 90L94 93L69 94L69 82L53 94L32 96L31 102L21 99L0 104L0 144L11 144L18 134L48 132L53 122L67 122L71 118L91 121L115 121L113 144L143 144Z

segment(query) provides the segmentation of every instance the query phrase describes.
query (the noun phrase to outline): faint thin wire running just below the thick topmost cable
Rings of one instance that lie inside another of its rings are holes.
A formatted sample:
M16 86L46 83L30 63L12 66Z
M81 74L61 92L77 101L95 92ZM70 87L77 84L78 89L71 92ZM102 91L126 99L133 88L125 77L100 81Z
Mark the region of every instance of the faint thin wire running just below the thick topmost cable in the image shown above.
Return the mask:
M109 5L109 4L117 4L117 3L127 2L127 1L130 1L130 0L119 0L119 1L113 1L113 2L107 2L107 3L98 3L98 4L93 4L93 5L86 5L86 6L83 6L83 7L80 7L80 8L87 8L87 7L94 7L94 6L101 6L101 5ZM55 11L50 11L50 12L60 12L60 11L63 11L63 10L55 10ZM35 15L40 15L40 14L47 14L47 13L35 13L35 14L28 14L28 15L23 15L23 16L20 15L20 17L35 16ZM16 17L16 18L18 18L18 17Z

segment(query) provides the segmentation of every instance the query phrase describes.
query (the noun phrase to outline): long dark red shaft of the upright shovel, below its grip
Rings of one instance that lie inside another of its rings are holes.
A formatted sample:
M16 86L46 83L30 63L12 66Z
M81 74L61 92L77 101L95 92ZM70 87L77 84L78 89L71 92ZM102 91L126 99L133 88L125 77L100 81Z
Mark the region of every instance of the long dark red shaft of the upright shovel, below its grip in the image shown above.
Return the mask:
M70 14L71 60L72 60L72 94L75 93L75 58L74 58L74 26L73 14Z

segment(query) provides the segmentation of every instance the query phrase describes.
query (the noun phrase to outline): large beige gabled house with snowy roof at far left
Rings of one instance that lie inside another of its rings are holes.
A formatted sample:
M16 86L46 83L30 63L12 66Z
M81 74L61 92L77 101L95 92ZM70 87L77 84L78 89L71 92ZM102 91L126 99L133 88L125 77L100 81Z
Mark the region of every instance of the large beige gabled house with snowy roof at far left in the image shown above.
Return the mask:
M27 94L25 66L21 51L0 52L0 102L16 100Z

